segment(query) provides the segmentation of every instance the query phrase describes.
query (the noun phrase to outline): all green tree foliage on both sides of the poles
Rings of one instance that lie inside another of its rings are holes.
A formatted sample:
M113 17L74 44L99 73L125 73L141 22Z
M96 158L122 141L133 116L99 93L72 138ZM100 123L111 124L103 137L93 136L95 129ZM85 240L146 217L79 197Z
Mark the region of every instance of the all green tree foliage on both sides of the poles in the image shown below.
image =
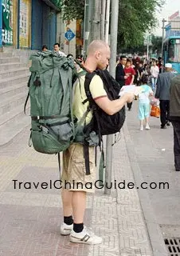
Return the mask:
M64 18L84 18L84 0L60 0ZM143 44L147 30L155 29L158 22L155 11L160 9L164 0L121 0L119 1L118 50L127 46Z

